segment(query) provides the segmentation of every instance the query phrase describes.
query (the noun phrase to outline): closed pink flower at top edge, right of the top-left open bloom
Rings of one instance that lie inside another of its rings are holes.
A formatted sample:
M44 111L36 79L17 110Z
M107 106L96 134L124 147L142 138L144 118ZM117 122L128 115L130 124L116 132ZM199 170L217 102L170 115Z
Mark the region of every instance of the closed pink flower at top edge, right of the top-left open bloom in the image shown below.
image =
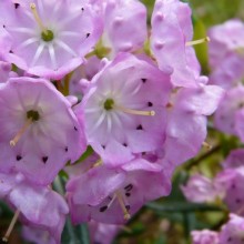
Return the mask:
M112 49L112 55L143 48L146 34L144 4L138 0L106 0L103 44Z

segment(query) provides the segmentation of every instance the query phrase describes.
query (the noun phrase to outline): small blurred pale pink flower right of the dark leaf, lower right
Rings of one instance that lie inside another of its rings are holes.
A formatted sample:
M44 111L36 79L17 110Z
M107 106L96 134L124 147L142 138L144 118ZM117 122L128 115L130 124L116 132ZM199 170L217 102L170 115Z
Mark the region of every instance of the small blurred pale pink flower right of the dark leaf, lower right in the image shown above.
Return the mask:
M214 202L216 199L223 199L225 193L217 182L201 174L192 175L181 190L187 201L195 203Z

